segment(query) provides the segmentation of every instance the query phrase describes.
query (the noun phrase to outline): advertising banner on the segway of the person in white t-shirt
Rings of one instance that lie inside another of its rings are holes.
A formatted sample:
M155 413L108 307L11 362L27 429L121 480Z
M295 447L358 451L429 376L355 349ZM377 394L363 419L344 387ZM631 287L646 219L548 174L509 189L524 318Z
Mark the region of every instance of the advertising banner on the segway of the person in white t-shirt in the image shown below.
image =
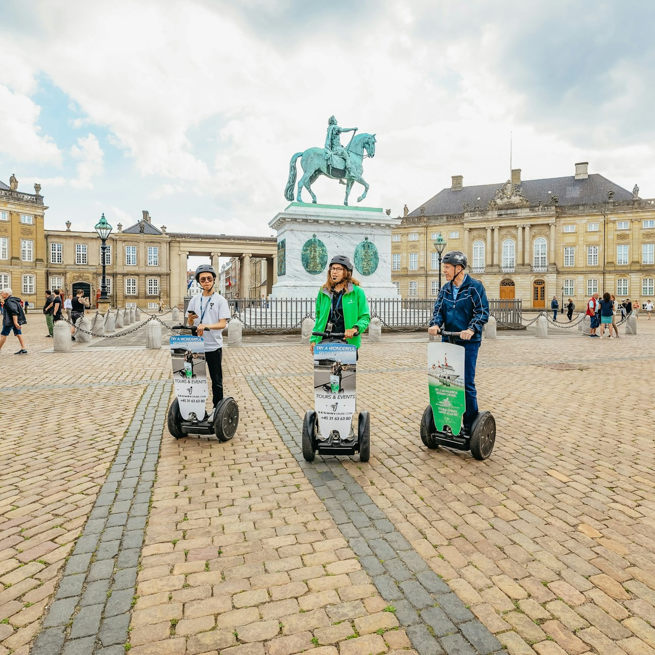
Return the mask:
M179 413L185 421L192 418L192 412L202 421L208 395L202 337L170 337L170 355Z

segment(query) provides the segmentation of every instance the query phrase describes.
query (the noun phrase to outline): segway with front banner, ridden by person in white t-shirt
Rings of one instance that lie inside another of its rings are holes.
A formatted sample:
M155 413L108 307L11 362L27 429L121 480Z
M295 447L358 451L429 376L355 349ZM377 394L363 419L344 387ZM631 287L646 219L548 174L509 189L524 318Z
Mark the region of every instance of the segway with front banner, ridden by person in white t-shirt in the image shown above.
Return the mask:
M189 434L214 434L219 441L231 440L239 424L236 400L223 398L208 415L204 340L198 337L195 327L179 325L172 329L181 334L170 337L176 398L168 408L168 432L176 439Z

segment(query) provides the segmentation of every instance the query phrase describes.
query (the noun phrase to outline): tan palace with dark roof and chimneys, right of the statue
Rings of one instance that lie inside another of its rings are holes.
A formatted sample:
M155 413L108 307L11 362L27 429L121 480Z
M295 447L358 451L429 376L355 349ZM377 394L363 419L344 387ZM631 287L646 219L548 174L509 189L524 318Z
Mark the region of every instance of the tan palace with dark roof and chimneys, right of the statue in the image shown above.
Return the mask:
M403 297L435 297L438 253L461 250L490 298L548 309L552 297L584 308L595 291L644 303L655 297L655 200L639 197L588 163L562 178L465 187L462 176L413 212L392 234L392 281ZM445 280L442 280L442 284Z

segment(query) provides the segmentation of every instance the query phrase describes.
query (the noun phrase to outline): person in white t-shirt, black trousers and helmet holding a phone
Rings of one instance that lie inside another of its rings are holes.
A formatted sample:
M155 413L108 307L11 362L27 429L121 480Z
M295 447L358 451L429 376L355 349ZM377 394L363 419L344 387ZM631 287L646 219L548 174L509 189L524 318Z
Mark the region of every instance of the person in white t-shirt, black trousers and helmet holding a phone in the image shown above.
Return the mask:
M223 400L223 329L230 318L227 300L215 290L216 271L209 264L196 269L196 282L202 293L196 293L187 307L187 322L195 326L204 339L205 361L212 379L212 405Z

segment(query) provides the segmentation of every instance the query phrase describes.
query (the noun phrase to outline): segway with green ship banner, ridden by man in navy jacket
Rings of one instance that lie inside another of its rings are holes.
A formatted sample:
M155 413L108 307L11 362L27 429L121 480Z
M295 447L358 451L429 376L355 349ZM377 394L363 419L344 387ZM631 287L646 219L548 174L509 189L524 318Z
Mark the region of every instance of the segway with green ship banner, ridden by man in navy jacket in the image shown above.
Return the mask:
M478 460L487 459L496 441L496 420L490 411L479 411L470 436L462 433L464 400L464 348L455 343L459 332L441 331L449 343L428 343L428 388L430 404L421 419L421 441L428 448L445 446L471 451Z

